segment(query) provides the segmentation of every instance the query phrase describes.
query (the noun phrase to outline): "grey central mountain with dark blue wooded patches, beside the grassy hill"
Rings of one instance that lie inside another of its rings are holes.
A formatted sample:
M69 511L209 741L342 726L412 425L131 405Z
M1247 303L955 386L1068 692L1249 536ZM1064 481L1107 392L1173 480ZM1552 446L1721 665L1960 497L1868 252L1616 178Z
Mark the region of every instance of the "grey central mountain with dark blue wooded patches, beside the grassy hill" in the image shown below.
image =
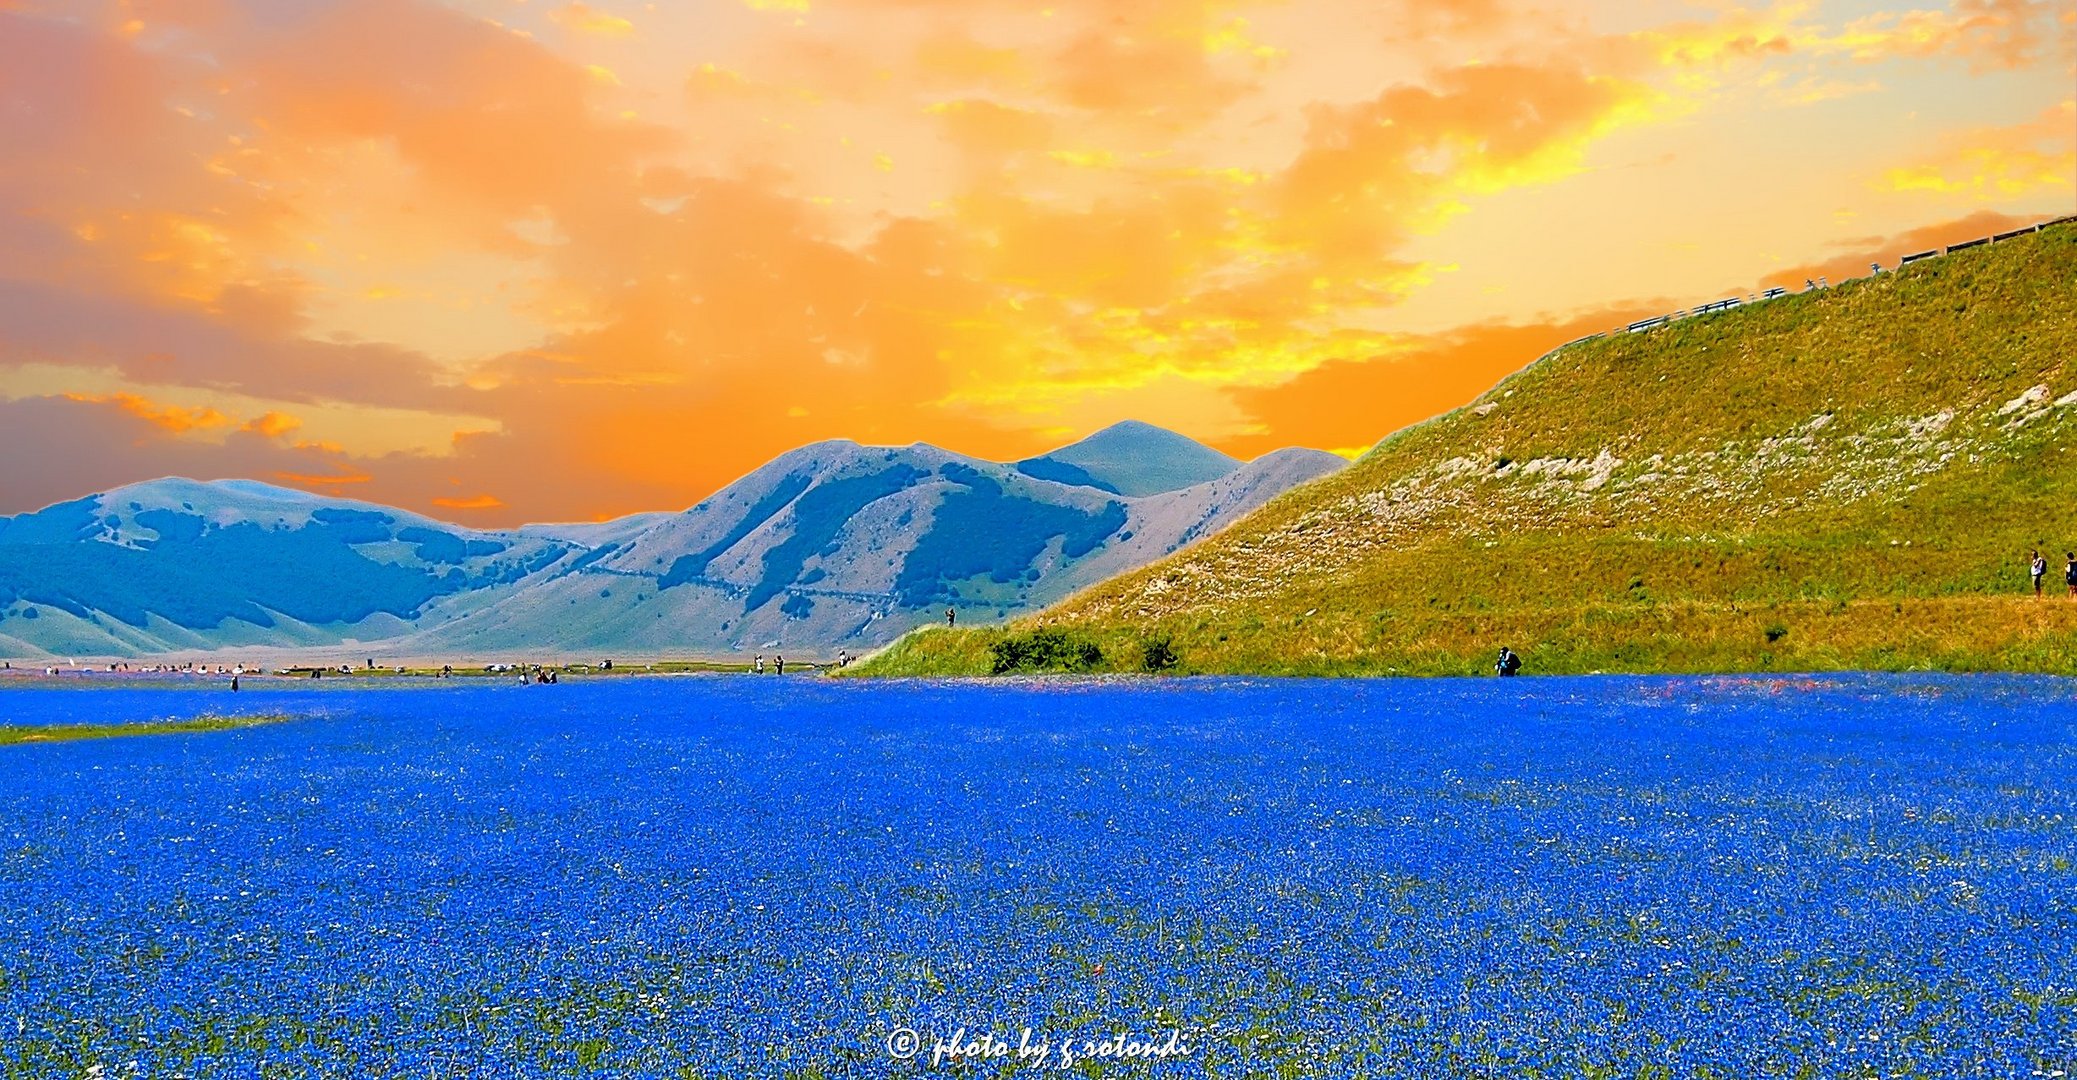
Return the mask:
M401 642L413 654L872 648L995 621L1209 536L1344 461L1279 451L1151 498L1032 478L937 447L816 442L584 565Z

